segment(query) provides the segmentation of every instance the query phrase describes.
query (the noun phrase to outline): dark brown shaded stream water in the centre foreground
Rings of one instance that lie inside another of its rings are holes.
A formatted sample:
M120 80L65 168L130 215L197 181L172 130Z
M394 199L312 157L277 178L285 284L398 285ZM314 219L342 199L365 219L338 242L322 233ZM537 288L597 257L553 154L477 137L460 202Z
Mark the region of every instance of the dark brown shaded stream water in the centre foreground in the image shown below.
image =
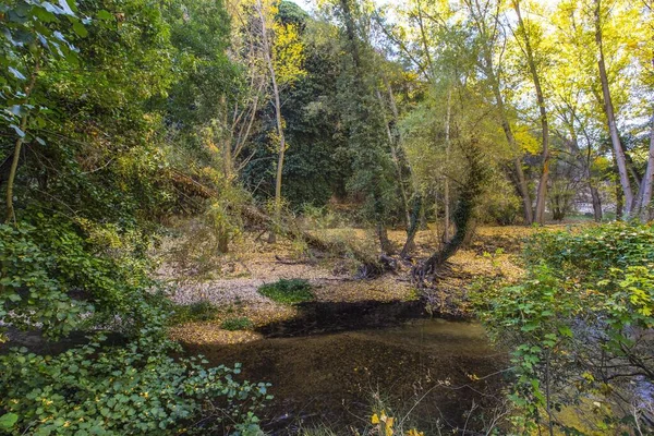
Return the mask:
M495 413L509 364L480 324L428 318L417 301L300 307L296 318L261 328L264 339L186 347L214 364L240 362L244 377L272 384L263 416L271 434L320 424L352 434L368 425L376 396L397 417L412 409L425 435L438 434L436 425L481 429Z

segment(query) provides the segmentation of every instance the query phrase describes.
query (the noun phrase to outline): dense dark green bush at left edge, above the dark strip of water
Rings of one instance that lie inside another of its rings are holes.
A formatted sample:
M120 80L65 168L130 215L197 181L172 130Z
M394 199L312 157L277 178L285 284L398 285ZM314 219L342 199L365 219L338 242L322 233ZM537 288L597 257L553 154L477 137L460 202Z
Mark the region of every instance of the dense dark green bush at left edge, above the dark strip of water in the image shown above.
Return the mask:
M94 243L96 233L40 214L16 227L0 225L0 318L40 326L50 338L99 324L124 332L149 324L160 299L152 292L148 262L137 249Z

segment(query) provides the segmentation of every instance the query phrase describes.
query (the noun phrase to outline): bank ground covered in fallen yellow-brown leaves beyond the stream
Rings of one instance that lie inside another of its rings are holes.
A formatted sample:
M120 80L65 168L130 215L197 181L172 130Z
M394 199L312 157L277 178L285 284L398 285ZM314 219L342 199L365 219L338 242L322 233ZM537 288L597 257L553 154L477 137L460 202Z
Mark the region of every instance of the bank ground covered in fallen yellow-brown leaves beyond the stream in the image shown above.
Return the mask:
M561 229L547 226L544 229ZM416 290L411 281L411 264L400 264L395 274L375 279L353 279L353 262L323 257L310 253L287 240L268 244L255 233L241 235L232 252L199 270L170 262L175 256L164 256L159 277L171 284L171 299L178 304L209 302L215 307L210 320L191 322L172 329L174 339L185 343L241 343L262 338L256 330L266 325L292 319L299 315L292 305L277 303L257 289L279 279L304 279L312 286L317 303L407 302L420 296L431 305L429 311L457 318L470 316L468 291L479 277L501 275L518 278L521 274L519 254L522 240L538 231L530 227L480 227L472 242L450 259L450 270L428 291ZM322 230L328 238L370 239L363 230ZM389 238L401 246L405 233L389 231ZM428 256L438 246L437 232L421 230L415 239L414 261ZM174 242L173 242L174 243ZM168 245L174 246L174 245ZM182 254L185 259L189 253ZM179 257L180 254L178 253ZM252 322L247 330L228 331L220 327L227 318L246 317Z

